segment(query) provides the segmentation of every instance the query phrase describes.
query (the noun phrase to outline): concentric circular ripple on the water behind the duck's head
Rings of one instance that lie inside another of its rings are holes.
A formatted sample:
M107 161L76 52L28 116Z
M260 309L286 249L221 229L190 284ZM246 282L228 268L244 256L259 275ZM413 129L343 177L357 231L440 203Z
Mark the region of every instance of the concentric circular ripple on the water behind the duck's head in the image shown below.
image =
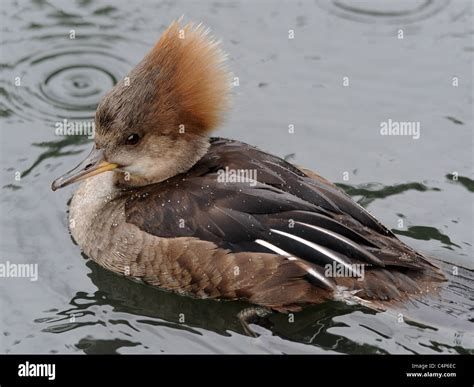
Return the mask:
M0 90L7 97L2 110L27 121L90 119L103 95L131 67L105 44L67 42L34 52L8 66Z

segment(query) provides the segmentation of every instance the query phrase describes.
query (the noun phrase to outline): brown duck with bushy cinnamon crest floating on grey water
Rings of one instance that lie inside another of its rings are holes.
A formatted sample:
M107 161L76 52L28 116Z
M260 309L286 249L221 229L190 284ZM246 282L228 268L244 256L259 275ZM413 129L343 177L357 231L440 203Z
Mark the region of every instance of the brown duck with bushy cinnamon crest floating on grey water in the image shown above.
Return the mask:
M226 54L176 20L100 101L69 229L100 266L195 298L242 300L250 321L336 300L373 308L435 292L434 259L336 185L249 144L212 137L230 105Z

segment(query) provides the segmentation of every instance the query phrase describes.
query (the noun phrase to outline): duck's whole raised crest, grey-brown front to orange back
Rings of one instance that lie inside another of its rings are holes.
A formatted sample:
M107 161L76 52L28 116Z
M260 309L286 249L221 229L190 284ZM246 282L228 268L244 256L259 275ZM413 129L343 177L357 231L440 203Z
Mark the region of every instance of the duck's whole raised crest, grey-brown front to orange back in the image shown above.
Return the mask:
M205 134L229 104L226 55L201 24L173 22L141 62L101 101L97 131L111 124L160 134ZM120 134L115 125L112 130Z

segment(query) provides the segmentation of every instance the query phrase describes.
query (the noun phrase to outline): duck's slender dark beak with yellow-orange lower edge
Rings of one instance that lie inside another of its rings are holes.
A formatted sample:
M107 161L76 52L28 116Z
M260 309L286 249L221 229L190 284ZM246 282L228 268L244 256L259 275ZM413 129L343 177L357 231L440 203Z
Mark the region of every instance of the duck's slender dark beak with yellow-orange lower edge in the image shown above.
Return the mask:
M118 167L118 164L112 164L105 161L104 150L92 148L89 156L86 157L76 168L65 173L53 181L51 189L56 191L58 188L65 187L76 181L87 179L102 172L111 171Z

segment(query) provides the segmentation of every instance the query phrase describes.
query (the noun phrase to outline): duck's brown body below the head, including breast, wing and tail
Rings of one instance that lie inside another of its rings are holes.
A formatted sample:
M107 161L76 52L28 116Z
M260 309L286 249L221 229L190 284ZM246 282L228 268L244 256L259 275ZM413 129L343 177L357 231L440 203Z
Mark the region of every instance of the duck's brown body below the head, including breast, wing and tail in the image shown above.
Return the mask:
M223 170L256 171L226 182ZM85 254L117 273L196 297L297 310L327 299L403 301L439 269L331 183L237 141L212 139L187 172L119 189L86 180L70 207ZM343 275L328 275L328 265ZM363 266L363 271L358 268Z

